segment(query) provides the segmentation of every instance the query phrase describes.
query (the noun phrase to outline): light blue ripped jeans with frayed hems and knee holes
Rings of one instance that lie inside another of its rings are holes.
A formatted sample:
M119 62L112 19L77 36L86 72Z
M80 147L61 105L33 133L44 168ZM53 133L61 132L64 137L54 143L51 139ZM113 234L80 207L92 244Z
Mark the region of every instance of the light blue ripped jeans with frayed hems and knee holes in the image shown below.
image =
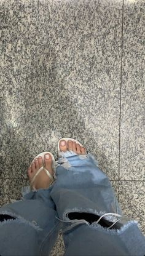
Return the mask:
M1 256L49 255L60 230L65 256L145 255L138 222L122 216L91 154L65 153L56 177L48 189L24 187L22 200L1 207Z

